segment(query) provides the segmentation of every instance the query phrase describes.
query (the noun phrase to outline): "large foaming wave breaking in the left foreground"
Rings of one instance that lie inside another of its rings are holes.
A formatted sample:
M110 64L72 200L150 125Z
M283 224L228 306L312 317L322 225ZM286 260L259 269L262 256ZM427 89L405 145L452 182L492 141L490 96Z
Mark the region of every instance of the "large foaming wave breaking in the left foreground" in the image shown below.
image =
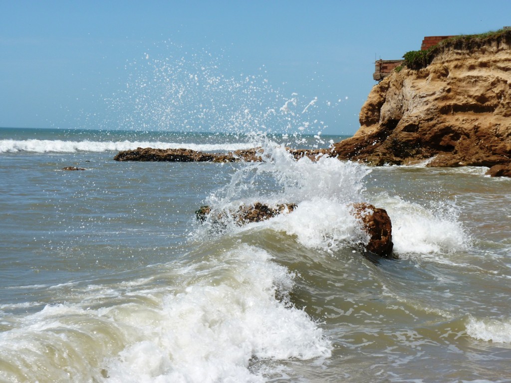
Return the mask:
M79 301L65 296L66 303L11 316L12 328L0 334L0 377L265 381L263 371L278 368L264 361L331 354L318 324L289 303L295 275L264 250L210 243L145 274L152 276L74 286ZM64 290L55 287L57 295Z

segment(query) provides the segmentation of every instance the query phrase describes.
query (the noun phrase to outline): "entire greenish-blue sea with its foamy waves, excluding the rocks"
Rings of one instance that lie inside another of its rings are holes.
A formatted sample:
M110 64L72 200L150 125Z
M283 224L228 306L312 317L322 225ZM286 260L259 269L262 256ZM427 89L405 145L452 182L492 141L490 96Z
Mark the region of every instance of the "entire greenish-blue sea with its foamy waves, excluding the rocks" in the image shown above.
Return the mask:
M0 381L511 381L511 179L282 148L340 139L0 129ZM256 201L298 207L195 218ZM352 202L388 211L399 260L364 254Z

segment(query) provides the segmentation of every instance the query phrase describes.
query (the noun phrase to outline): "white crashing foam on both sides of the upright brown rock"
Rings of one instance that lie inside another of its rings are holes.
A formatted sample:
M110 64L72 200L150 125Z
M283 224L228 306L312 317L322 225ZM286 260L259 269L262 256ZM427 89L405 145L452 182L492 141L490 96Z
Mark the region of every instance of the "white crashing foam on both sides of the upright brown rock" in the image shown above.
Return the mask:
M284 148L269 141L264 148L265 161L239 169L230 185L207 201L210 206L236 209L255 201L295 203L298 207L291 214L261 225L296 235L304 246L335 251L339 246L367 240L360 223L350 214L350 204L370 202L389 213L397 253L449 254L470 247L470 236L458 219L458 209L449 201L425 207L398 196L369 196L365 194L364 177L370 170L363 165L331 157L296 161Z

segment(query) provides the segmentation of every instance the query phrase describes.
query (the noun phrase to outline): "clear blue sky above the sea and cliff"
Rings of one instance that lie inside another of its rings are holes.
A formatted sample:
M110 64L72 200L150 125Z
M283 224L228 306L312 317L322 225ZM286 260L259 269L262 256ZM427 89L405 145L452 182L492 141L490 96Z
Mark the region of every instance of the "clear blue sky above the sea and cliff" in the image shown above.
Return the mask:
M155 128L180 130L189 117L176 123L156 110L180 94L158 92L164 83L177 89L179 82L183 91L203 92L190 80L194 70L203 70L210 78L238 81L244 94L251 93L251 108L258 94L268 99L275 92L282 95L277 111L286 98L296 98L297 114L305 119L314 109L324 122L323 134L353 134L376 84L376 58L400 59L419 50L424 36L511 26L511 0L0 0L0 5L0 127L133 129L152 113L145 128L157 115ZM153 79L154 86L142 84L142 78L158 76L165 59L168 73ZM178 65L190 79L177 75ZM251 76L255 85L249 87L242 79ZM132 92L128 85L145 88ZM212 84L204 98L229 100L223 93L233 86ZM201 97L183 100L202 104ZM151 98L159 102L140 106L141 99ZM198 108L183 103L172 116Z

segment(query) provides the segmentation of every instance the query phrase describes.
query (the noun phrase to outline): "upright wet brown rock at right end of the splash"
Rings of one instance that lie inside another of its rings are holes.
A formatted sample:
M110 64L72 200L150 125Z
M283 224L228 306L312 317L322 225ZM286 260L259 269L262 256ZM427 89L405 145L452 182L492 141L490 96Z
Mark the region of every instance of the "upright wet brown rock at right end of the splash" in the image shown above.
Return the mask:
M387 211L368 203L354 203L352 206L353 215L362 221L370 237L365 249L382 257L397 258L392 255L392 224Z

